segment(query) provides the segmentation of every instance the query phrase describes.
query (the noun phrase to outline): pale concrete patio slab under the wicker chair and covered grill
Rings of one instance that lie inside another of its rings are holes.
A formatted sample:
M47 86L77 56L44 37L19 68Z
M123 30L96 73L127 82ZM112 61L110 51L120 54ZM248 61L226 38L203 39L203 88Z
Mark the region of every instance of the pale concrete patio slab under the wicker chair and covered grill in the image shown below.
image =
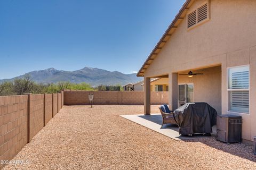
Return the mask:
M132 122L138 123L142 126L145 126L148 129L166 135L174 140L191 140L191 139L198 139L198 138L207 138L202 134L196 134L192 137L179 135L179 128L177 125L174 124L165 124L162 126L162 115L161 114L151 114L151 115L120 115L121 117L126 118ZM213 133L212 135L216 134L216 126L212 128Z

